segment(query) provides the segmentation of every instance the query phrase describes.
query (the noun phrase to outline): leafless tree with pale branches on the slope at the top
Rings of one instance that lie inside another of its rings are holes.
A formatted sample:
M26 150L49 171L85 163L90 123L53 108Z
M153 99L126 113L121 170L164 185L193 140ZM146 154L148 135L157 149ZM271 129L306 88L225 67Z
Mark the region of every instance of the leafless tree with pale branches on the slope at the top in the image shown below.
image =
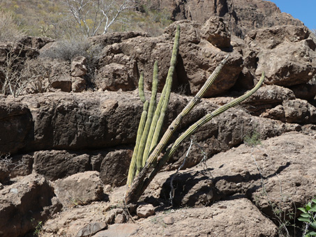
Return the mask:
M115 22L123 22L121 15L133 7L134 0L64 0L73 20L85 36L98 31L107 33Z

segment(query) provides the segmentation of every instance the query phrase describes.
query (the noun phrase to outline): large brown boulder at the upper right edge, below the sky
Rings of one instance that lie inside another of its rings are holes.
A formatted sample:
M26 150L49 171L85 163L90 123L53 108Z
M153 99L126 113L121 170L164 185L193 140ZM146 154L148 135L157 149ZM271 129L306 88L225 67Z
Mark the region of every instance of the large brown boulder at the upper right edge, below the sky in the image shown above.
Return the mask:
M266 75L266 84L293 86L310 81L316 71L315 43L305 26L274 26L251 31L248 46L257 52L255 75ZM292 60L289 60L292 59Z

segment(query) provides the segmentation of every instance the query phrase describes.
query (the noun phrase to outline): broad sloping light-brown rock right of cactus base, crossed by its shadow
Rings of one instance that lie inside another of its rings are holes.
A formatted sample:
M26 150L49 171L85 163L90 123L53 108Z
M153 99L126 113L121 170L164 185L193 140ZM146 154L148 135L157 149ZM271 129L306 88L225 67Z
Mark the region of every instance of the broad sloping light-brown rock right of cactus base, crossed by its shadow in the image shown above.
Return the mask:
M245 195L271 219L276 217L273 205L289 213L294 204L298 208L315 197L315 144L312 135L288 132L255 147L242 144L213 155L201 165L179 171L173 182L174 204L204 206ZM168 201L172 174L158 174L142 198Z

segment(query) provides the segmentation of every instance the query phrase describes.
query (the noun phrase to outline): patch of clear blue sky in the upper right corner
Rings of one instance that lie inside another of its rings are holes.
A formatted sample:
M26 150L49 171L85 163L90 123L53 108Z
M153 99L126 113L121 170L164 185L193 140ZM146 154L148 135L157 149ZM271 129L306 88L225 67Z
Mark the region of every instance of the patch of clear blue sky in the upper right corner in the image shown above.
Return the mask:
M316 29L316 0L269 0L283 13L301 20L309 29Z

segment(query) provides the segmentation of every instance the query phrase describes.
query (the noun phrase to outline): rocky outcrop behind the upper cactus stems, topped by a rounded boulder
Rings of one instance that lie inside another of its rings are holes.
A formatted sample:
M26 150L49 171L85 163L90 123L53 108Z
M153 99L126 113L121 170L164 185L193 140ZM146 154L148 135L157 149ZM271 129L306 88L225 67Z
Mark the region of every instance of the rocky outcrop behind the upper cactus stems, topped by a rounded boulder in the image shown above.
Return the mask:
M174 76L174 91L183 86L186 93L195 94L227 55L218 47L230 47L230 33L225 29L225 23L218 23L217 18L208 22L204 29L195 22L180 21L176 24L181 26L181 44ZM158 60L158 88L161 91L170 66L176 24L168 26L165 34L157 38L136 37L107 45L99 61L100 69L95 81L97 88L112 91L133 90L138 83L140 72L144 71L145 86L150 89L153 63ZM225 31L222 31L224 29ZM202 32L203 37L211 43L201 38ZM241 55L238 52L230 52L230 59L223 69L225 73L218 77L205 96L223 93L234 86L241 72L241 64Z

